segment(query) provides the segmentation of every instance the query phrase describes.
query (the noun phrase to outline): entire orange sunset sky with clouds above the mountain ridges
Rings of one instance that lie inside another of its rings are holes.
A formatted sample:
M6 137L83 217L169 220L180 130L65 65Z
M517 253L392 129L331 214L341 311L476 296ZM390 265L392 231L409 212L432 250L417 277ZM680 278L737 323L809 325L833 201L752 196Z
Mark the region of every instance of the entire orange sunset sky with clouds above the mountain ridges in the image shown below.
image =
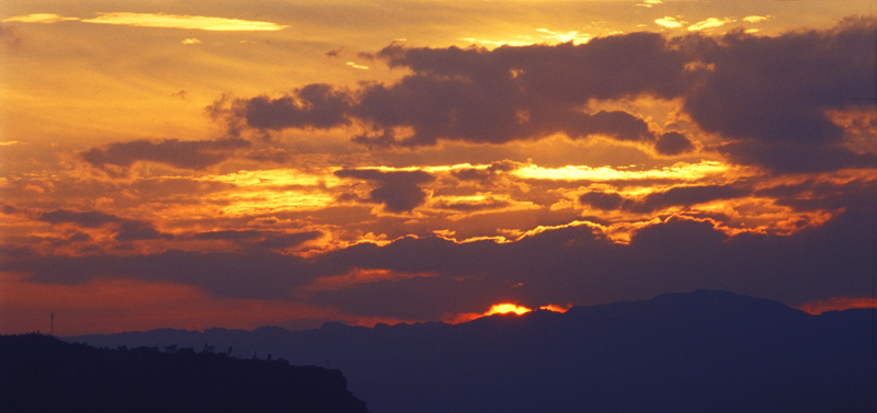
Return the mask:
M0 333L867 306L875 13L4 0Z

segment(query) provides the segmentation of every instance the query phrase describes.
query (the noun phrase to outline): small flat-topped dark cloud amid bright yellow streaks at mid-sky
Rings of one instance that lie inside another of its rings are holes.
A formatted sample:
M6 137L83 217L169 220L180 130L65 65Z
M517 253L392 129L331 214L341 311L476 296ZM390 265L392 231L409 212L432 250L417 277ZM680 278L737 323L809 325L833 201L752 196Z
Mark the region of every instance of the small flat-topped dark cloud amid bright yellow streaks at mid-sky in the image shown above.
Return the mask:
M335 171L335 176L372 181L377 186L368 195L369 202L384 204L389 211L405 213L417 208L426 200L426 192L420 187L435 180L423 171L391 171L344 169Z

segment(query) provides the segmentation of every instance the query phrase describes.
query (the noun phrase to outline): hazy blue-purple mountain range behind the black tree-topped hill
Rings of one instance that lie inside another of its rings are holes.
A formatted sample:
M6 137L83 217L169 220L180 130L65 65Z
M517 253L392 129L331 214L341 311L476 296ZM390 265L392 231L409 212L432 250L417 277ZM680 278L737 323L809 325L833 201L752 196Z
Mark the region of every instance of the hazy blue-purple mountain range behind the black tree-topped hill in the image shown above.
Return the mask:
M724 291L472 322L73 337L234 346L340 368L375 413L877 412L870 310Z

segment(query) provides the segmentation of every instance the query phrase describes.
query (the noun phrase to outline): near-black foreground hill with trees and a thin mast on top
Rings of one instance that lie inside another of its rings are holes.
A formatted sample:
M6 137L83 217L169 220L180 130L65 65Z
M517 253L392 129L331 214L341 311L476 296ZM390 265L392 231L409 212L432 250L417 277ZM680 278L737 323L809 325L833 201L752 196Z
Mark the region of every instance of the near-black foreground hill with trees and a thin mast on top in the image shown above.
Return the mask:
M39 334L0 336L0 411L367 413L338 370Z

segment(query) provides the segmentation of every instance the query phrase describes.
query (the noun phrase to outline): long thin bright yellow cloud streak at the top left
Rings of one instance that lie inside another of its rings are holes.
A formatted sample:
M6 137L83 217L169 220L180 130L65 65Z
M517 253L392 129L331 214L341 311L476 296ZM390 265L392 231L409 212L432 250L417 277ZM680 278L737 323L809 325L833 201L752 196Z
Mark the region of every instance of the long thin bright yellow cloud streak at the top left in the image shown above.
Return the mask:
M278 31L288 27L287 25L281 25L272 22L259 22L240 19L128 12L98 13L98 16L92 19L65 18L59 14L36 13L13 16L3 21L22 23L56 23L61 21L79 21L83 23L118 24L136 27L187 28L214 32Z

